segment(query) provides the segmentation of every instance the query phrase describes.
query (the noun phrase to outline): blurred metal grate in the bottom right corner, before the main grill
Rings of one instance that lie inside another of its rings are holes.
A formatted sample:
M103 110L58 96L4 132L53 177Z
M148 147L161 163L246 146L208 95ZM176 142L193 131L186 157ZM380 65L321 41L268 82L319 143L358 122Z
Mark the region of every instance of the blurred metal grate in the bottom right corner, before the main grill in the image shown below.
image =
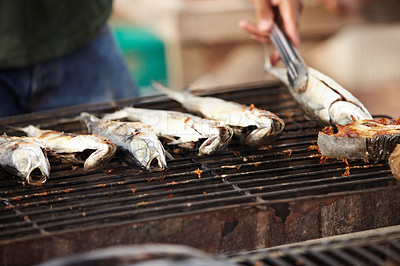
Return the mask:
M238 265L400 265L400 227L238 254Z

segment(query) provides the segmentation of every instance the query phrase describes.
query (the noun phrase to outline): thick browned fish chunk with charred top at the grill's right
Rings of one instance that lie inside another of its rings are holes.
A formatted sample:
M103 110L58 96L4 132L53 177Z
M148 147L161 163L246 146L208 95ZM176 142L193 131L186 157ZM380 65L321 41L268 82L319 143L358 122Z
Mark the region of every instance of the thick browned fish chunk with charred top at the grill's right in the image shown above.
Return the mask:
M333 127L325 127L318 133L317 142L326 157L380 162L388 160L400 143L400 125L369 119L353 121L337 126L337 132Z

